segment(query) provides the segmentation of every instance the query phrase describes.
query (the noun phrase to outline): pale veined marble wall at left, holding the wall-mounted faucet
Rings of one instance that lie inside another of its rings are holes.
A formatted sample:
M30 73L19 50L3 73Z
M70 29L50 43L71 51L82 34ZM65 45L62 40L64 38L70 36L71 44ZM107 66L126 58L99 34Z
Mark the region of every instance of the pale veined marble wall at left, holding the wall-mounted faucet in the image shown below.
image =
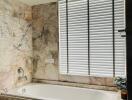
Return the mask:
M0 90L31 81L32 8L18 0L0 0ZM18 80L22 67L27 80Z

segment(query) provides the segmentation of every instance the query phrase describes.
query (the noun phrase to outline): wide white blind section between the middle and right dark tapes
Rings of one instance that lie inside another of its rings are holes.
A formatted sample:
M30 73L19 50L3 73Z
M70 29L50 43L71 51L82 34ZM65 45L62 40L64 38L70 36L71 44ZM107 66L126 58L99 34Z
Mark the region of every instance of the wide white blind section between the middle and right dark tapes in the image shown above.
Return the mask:
M112 0L90 0L90 72L113 76Z

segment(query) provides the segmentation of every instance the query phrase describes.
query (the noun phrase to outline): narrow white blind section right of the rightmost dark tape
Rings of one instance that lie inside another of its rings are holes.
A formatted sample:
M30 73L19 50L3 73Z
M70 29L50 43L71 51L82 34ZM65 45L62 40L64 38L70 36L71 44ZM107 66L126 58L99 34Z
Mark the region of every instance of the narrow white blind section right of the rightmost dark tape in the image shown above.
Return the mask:
M125 0L115 0L115 76L126 75Z

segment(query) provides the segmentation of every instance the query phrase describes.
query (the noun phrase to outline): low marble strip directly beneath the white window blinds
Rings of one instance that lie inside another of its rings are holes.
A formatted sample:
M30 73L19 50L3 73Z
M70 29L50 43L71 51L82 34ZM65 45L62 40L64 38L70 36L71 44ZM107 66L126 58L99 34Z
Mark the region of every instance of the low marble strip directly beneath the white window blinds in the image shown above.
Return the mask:
M110 77L95 77L95 76L78 76L78 75L59 75L59 80L75 83L84 83L89 85L99 85L99 86L112 86L113 78Z

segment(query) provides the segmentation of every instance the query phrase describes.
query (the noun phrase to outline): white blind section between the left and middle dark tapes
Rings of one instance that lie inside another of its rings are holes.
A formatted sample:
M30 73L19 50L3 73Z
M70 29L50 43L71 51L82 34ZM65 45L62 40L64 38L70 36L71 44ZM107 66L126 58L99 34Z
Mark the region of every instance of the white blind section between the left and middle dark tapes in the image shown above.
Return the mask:
M88 75L87 0L68 0L69 74Z

